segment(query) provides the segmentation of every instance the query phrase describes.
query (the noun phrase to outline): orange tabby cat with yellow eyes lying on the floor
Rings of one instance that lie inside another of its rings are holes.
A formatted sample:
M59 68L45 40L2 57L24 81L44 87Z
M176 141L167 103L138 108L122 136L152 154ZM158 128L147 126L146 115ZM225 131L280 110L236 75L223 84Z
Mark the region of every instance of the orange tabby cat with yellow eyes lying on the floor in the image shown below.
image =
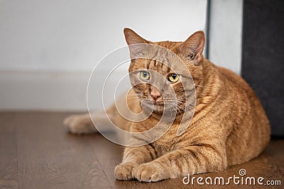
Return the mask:
M141 147L126 147L123 161L114 171L117 179L155 182L186 176L188 173L222 171L227 166L249 161L263 151L269 142L271 130L260 101L244 79L204 58L202 51L205 37L202 31L192 34L185 42L151 42L129 28L124 29L124 34L128 45L160 45L178 55L195 83L196 105L189 127L180 136L176 133L181 116L187 114L182 101L177 104L180 106L179 111L163 137ZM168 80L170 78L168 85L173 87L177 98L184 99L185 91L180 85L184 79L182 76L171 73L161 62L151 59L131 60L129 71L139 69L155 70ZM146 71L143 79L148 78L148 74L151 73ZM159 116L163 114L160 105L165 104L166 99L157 88L143 83L133 86L130 95L134 94L137 94L136 98L127 99L134 112L142 110L137 99L153 101L154 111L150 118L143 122L130 122L117 113L115 105L107 113L119 127L141 132L158 122ZM94 116L101 115L94 113ZM99 118L102 122L104 119ZM94 132L89 115L73 115L65 120L65 125L77 134Z

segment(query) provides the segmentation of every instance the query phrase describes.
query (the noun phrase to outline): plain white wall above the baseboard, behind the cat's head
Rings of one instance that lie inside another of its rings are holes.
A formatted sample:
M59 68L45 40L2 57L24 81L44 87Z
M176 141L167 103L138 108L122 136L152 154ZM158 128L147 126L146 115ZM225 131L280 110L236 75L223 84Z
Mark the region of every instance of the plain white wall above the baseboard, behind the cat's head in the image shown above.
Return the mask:
M89 71L126 45L130 27L149 40L185 40L203 30L206 0L1 0L0 69Z

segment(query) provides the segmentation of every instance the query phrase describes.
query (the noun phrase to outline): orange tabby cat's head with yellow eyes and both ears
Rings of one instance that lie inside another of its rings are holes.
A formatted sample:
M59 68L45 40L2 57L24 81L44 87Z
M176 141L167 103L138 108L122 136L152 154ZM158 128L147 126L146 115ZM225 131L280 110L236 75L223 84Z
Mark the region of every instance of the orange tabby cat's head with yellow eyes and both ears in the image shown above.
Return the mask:
M184 112L195 101L195 84L202 79L204 33L197 31L185 42L151 42L129 28L124 35L131 55L131 84L143 107L156 113Z

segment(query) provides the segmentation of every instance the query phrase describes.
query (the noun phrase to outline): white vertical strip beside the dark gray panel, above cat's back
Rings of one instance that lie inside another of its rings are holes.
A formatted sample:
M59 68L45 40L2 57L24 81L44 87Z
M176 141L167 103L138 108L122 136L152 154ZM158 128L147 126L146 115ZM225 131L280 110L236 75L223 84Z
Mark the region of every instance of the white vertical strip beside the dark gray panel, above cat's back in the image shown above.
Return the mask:
M241 74L243 0L212 0L209 15L209 59Z

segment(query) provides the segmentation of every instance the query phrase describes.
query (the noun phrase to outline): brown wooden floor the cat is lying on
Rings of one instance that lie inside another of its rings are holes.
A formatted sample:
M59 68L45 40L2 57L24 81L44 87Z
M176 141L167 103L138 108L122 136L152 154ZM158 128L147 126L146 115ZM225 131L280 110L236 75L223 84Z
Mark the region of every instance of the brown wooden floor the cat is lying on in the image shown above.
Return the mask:
M67 115L0 113L0 188L228 188L228 185L184 185L182 178L158 183L116 181L114 167L121 161L123 147L99 134L68 134L62 126ZM199 176L229 178L239 176L241 168L246 169L246 176L277 180L282 187L275 188L283 188L284 140L271 141L261 156L246 164ZM231 182L229 188L240 186Z

